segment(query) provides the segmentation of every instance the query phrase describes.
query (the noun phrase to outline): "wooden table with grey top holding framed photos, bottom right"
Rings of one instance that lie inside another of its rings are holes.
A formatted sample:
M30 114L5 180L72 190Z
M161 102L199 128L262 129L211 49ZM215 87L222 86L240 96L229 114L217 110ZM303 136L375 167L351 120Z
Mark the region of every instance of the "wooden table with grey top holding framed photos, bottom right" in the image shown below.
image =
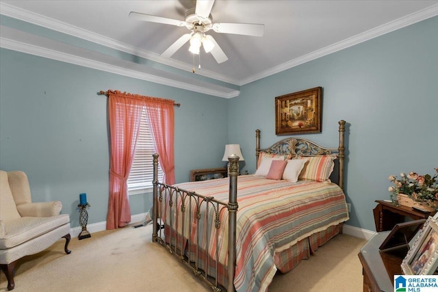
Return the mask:
M394 292L394 275L403 274L400 265L407 246L387 252L378 249L389 233L376 233L358 254L363 268L363 292Z

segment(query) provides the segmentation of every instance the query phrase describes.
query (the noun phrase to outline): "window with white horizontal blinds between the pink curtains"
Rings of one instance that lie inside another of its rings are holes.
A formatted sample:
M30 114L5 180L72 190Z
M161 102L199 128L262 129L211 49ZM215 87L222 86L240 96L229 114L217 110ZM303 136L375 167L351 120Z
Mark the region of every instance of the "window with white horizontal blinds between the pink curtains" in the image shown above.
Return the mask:
M128 178L129 195L143 194L152 191L153 157L156 152L151 127L143 109L140 120L140 131L136 146L136 153L132 162ZM158 181L163 181L163 170L158 165Z

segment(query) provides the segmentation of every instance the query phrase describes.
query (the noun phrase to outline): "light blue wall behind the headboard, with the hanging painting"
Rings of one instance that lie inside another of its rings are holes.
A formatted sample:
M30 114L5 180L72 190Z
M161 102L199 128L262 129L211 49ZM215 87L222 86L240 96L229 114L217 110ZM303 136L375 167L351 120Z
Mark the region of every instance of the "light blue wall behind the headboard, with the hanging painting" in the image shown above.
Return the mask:
M229 140L255 168L275 135L274 98L322 86L322 133L305 137L337 147L338 120L348 122L346 195L349 225L375 230L374 200L389 199L390 174L433 174L438 167L438 16L296 66L241 88L229 102Z

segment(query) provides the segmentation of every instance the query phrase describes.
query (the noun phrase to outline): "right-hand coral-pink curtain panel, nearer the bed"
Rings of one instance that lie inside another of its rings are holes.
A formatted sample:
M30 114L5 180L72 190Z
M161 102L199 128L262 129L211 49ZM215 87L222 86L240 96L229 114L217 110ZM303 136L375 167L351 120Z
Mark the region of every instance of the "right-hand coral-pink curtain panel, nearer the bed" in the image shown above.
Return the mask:
M174 101L157 98L146 100L146 113L152 126L158 162L164 172L164 183L175 184L175 157L173 150L175 118Z

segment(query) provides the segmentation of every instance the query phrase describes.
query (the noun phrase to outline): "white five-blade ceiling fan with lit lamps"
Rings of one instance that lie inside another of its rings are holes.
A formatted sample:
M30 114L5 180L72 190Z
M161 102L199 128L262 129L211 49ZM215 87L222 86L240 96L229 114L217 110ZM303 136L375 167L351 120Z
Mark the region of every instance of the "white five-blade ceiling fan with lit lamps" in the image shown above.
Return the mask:
M205 34L213 29L220 34L241 34L245 36L263 36L265 25L252 23L213 23L211 17L211 8L214 0L198 0L196 7L185 13L185 19L179 21L172 18L142 14L139 12L130 12L129 17L136 18L140 21L149 21L153 23L164 23L166 25L176 25L177 27L187 27L191 32L183 34L174 42L166 51L162 53L163 57L170 57L177 52L183 45L190 41L189 51L199 54L201 46L205 53L211 53L218 64L227 61L228 57L220 49L219 44L213 36Z

